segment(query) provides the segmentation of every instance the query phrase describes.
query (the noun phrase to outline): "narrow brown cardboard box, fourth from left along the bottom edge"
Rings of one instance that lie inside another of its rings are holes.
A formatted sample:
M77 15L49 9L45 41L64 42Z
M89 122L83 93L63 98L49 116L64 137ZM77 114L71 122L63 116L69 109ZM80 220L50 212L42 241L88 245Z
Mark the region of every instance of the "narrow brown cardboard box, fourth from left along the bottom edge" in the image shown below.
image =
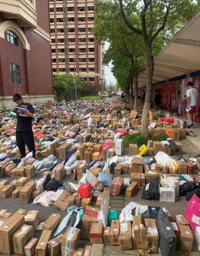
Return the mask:
M48 242L51 239L51 230L43 230L40 240L36 246L36 255L45 256L48 251Z

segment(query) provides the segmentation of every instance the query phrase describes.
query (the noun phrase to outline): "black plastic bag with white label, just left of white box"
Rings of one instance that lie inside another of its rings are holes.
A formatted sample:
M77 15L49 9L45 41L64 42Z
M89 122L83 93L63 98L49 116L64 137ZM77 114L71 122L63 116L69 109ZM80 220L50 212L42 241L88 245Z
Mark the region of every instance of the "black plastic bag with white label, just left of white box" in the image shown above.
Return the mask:
M155 178L152 182L147 184L142 192L142 199L154 199L159 194L159 178Z

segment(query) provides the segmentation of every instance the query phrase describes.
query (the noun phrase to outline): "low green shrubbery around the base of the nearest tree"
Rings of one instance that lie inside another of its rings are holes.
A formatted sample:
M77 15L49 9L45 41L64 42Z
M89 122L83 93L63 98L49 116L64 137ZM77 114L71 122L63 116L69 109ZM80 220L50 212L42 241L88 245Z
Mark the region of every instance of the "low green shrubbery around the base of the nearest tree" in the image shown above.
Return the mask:
M129 148L129 144L137 144L137 147L141 147L143 144L147 146L148 140L151 139L152 141L164 141L164 136L160 135L156 138L152 137L143 137L141 132L138 132L136 134L130 135L127 134L123 137L123 147Z

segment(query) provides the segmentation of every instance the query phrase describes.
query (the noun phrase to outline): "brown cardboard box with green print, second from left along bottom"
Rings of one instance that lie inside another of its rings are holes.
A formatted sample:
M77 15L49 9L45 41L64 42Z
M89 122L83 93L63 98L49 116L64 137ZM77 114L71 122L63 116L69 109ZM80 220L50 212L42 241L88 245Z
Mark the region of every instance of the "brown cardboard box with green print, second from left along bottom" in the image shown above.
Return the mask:
M13 251L16 254L24 255L24 246L33 238L34 229L33 226L24 224L13 234Z

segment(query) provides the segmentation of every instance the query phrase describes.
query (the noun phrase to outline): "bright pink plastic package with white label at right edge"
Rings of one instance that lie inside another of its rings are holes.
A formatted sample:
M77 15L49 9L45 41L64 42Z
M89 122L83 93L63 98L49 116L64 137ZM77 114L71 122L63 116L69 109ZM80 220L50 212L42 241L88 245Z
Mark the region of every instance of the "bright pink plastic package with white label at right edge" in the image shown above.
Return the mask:
M190 223L190 228L195 232L196 226L200 226L200 198L193 195L186 207L184 217Z

